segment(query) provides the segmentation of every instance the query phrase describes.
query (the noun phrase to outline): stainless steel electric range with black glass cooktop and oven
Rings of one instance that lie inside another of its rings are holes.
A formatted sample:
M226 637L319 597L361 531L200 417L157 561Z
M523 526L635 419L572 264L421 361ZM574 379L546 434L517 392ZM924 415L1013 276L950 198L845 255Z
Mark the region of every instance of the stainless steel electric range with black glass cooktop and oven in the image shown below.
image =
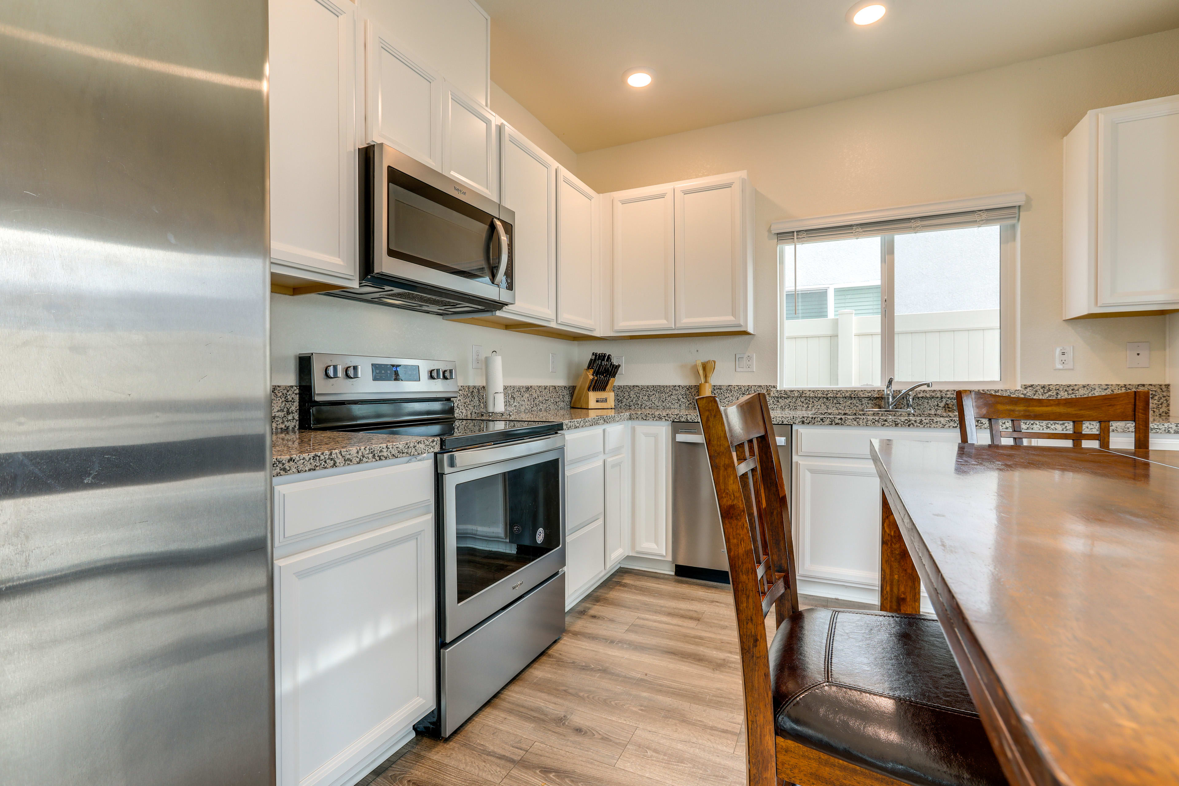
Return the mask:
M565 632L560 423L456 418L454 361L308 354L299 427L436 436L437 712L449 737Z

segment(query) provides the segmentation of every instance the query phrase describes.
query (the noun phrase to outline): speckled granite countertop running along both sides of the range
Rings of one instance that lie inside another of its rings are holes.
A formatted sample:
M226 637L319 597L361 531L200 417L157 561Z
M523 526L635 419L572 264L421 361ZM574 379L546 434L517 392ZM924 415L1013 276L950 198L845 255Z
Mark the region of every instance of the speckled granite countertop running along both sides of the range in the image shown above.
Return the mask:
M867 415L855 410L770 410L778 425L862 425L872 428L956 429L957 416L946 412L918 412L916 415ZM605 425L625 421L670 421L696 423L700 416L694 409L522 409L512 412L472 412L467 417L496 421L551 421L560 422L567 431L591 425ZM1025 421L1025 428L1045 431L1065 431L1063 423L1034 424ZM980 428L986 428L983 421ZM1089 424L1087 430L1095 430ZM1133 431L1132 423L1114 423L1115 432ZM1151 423L1151 434L1179 434L1179 423ZM355 431L276 431L274 434L275 477L309 473L316 469L350 467L387 458L422 456L439 449L436 437L404 437L388 434L361 434Z

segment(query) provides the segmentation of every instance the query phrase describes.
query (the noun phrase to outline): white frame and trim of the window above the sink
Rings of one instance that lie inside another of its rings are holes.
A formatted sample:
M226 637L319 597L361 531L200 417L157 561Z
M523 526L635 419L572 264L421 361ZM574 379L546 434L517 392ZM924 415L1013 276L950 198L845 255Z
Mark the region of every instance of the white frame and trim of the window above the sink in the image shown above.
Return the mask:
M960 212L964 210L986 210L988 207L1005 207L1010 205L1022 205L1026 200L1026 194L1022 192L1014 192L1007 194L997 194L994 197L980 197L977 199L957 199L953 202L931 203L928 205L914 205L909 207L890 207L887 210L868 211L863 213L842 213L839 216L828 216L825 218L810 218L810 219L795 219L785 222L775 222L770 225L770 231L772 233L788 232L788 231L802 231L804 229L819 229L823 226L839 226L843 224L855 224L855 223L868 223L874 220L885 220L889 218L915 218L920 216L935 216L940 213ZM1020 326L1020 295L1019 295L1019 276L1020 276L1020 244L1019 244L1019 223L1013 224L1001 224L1000 225L1000 240L999 240L999 276L1000 276L1000 293L999 293L999 313L1000 313L1000 362L999 362L999 374L1000 379L996 382L994 379L982 379L982 381L959 381L959 382L934 382L934 388L937 390L1015 390L1019 389L1019 368L1020 368L1020 342L1019 342L1019 326ZM894 368L895 364L895 351L896 351L896 335L894 332L893 322L893 309L889 308L894 302L894 282L893 271L894 265L891 264L891 237L893 236L881 236L888 237L889 242L885 244L888 247L885 255L888 256L888 264L884 265L885 275L881 277L881 295L883 298L882 303L882 315L881 315L881 377L882 379L888 379L889 370ZM783 246L785 247L785 246ZM785 344L785 330L788 323L797 322L797 319L785 318L785 298L783 297L785 290L786 270L785 263L783 262L783 253L778 253L778 343L775 348L776 356L775 362L778 366L778 390L883 390L884 385L810 385L810 387L786 387L785 385L785 364L782 362L782 348ZM818 288L810 288L818 289ZM802 290L799 290L802 291ZM884 336L891 336L893 341L884 341ZM896 379L893 385L900 387L901 389L908 388L910 384L924 382L924 379Z

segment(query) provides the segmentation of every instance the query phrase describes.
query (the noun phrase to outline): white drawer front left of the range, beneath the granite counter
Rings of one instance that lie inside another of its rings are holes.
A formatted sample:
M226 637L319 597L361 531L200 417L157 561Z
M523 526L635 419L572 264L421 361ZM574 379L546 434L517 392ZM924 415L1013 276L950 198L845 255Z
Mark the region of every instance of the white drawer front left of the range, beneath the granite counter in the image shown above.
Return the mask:
M275 487L275 540L284 542L391 510L434 501L429 461Z

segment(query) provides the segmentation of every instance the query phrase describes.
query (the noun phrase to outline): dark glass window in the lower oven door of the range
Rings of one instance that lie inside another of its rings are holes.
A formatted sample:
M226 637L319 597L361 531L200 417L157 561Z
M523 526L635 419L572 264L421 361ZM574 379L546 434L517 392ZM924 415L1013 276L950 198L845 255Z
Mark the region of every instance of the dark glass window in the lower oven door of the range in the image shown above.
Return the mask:
M455 487L459 603L561 544L559 473L553 458Z

